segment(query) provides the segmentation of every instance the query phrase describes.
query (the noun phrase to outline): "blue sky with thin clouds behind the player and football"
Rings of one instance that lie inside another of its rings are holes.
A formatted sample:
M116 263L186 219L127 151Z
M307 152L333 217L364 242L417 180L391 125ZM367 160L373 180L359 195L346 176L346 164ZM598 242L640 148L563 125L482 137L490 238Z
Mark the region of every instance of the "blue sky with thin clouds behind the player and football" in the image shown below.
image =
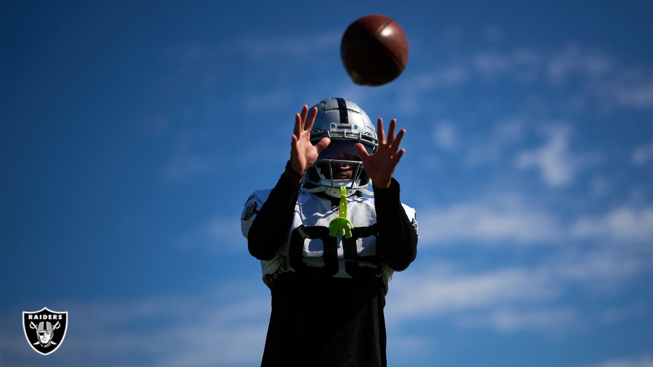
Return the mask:
M293 115L407 129L418 257L390 366L653 366L653 8L645 1L37 2L1 9L3 366L252 366L269 292L240 234ZM406 71L355 86L356 18ZM69 311L42 357L22 311Z

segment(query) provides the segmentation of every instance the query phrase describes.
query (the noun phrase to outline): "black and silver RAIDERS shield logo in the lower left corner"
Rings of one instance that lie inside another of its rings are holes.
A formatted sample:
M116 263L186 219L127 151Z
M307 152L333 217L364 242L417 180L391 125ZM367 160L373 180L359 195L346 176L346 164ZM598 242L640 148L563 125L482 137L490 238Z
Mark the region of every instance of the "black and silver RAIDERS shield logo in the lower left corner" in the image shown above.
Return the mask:
M50 311L45 307L40 311L23 311L23 330L27 343L42 355L49 355L59 348L66 337L67 325L67 311Z

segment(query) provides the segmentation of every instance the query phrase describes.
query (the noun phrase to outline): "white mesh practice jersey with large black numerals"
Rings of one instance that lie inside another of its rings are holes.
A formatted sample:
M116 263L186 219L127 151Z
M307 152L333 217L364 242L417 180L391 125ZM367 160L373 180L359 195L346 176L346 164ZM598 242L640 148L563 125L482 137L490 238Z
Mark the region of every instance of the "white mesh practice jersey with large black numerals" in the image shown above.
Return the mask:
M245 237L270 191L272 190L255 191L247 200L240 217ZM403 203L402 206L417 230L415 210ZM329 199L300 191L295 205L293 225L289 229L285 244L274 259L261 261L264 283L267 285L266 274L274 274L279 270L335 278L374 274L383 277L387 291L394 270L377 256L378 231L374 199L356 195L347 198L347 219L353 224L351 238L343 238L342 231L339 231L336 237L328 235L329 223L339 215L339 207L332 206Z

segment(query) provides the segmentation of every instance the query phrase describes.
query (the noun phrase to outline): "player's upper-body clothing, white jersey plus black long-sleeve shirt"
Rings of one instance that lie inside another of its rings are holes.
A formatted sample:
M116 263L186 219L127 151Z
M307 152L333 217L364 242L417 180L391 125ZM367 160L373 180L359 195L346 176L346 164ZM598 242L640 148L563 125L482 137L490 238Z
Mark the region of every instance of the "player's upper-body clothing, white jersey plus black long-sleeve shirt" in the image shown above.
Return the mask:
M374 187L374 204L347 198L353 236L336 239L327 227L339 200L299 189L283 175L249 197L242 215L249 253L272 290L261 366L386 366L385 292L392 272L415 259L414 210L392 179Z

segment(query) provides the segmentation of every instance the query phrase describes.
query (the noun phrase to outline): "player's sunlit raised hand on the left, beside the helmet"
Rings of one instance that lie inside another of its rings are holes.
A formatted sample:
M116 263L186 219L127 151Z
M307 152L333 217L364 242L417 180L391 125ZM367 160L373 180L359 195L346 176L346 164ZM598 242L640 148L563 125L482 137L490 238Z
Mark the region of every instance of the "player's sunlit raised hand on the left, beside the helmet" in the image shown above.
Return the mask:
M311 144L311 129L317 116L317 107L311 110L308 116L308 106L304 104L301 114L295 114L295 133L291 142L291 165L293 170L303 173L315 163L317 156L331 142L330 138L322 138L315 146Z

